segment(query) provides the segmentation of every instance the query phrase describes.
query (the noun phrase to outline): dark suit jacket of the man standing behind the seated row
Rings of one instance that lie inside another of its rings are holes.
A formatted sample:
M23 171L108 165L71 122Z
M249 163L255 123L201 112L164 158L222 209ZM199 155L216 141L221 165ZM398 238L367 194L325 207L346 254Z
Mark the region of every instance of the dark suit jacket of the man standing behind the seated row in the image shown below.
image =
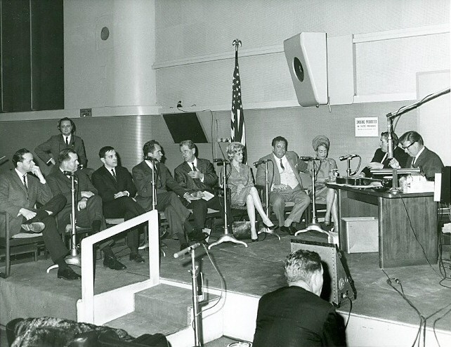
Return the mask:
M34 148L34 152L43 162L47 163L51 158L53 158L56 162L55 166L59 166L60 163L58 162L58 155L65 148L67 148L67 146L64 142L63 134L60 133L59 135L54 135L46 140L46 142L38 145L37 148ZM72 133L68 148L72 148L72 150L77 152L79 163L86 167L88 159L86 159L86 151L84 150L83 140Z

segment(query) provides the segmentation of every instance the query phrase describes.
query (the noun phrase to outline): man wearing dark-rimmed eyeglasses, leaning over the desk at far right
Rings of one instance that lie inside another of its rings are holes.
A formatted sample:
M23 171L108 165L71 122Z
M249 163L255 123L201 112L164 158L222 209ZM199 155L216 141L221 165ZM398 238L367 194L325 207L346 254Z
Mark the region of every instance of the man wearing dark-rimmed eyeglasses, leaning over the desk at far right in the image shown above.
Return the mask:
M396 169L401 167L415 168L419 167L421 172L429 181L433 181L435 174L442 172L443 162L435 152L424 147L423 138L417 131L407 131L400 137L399 142L401 148L405 150L409 157L405 166L400 166L400 163L395 158L391 159L391 166Z

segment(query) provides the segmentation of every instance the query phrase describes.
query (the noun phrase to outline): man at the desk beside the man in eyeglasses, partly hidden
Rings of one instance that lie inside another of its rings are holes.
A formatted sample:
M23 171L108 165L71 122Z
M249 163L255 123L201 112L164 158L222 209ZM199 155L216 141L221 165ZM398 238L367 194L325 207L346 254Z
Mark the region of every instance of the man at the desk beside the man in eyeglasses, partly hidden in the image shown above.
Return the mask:
M393 157L400 163L405 163L407 161L408 155L404 152L402 148L398 147L398 136L396 133L392 134L393 140ZM374 152L374 157L371 159L370 164L368 164L365 169L360 172L360 176L372 177L371 169L388 169L390 166L390 160L388 158L388 131L381 133L381 139L379 141L379 147L376 152Z

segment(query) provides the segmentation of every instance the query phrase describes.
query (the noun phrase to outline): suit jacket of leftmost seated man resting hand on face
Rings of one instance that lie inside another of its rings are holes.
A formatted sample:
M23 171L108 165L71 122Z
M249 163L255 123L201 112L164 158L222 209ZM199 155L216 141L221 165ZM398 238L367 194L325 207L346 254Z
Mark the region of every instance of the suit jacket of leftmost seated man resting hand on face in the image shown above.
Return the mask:
M15 170L11 170L0 176L0 212L8 212L10 217L11 236L20 233L20 225L23 216L19 214L20 209L30 209L34 211L34 204L39 202L46 204L52 197L51 189L48 185L39 182L39 179L28 174L28 189L25 188ZM4 218L0 221L0 235L5 236L6 225Z

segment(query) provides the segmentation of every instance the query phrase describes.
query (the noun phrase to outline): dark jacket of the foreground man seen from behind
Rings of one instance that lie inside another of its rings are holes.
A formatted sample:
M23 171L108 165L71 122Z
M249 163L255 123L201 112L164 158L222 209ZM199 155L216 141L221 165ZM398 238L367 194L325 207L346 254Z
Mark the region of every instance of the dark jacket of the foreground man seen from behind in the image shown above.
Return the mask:
M254 347L346 346L334 307L301 287L283 287L261 297Z

